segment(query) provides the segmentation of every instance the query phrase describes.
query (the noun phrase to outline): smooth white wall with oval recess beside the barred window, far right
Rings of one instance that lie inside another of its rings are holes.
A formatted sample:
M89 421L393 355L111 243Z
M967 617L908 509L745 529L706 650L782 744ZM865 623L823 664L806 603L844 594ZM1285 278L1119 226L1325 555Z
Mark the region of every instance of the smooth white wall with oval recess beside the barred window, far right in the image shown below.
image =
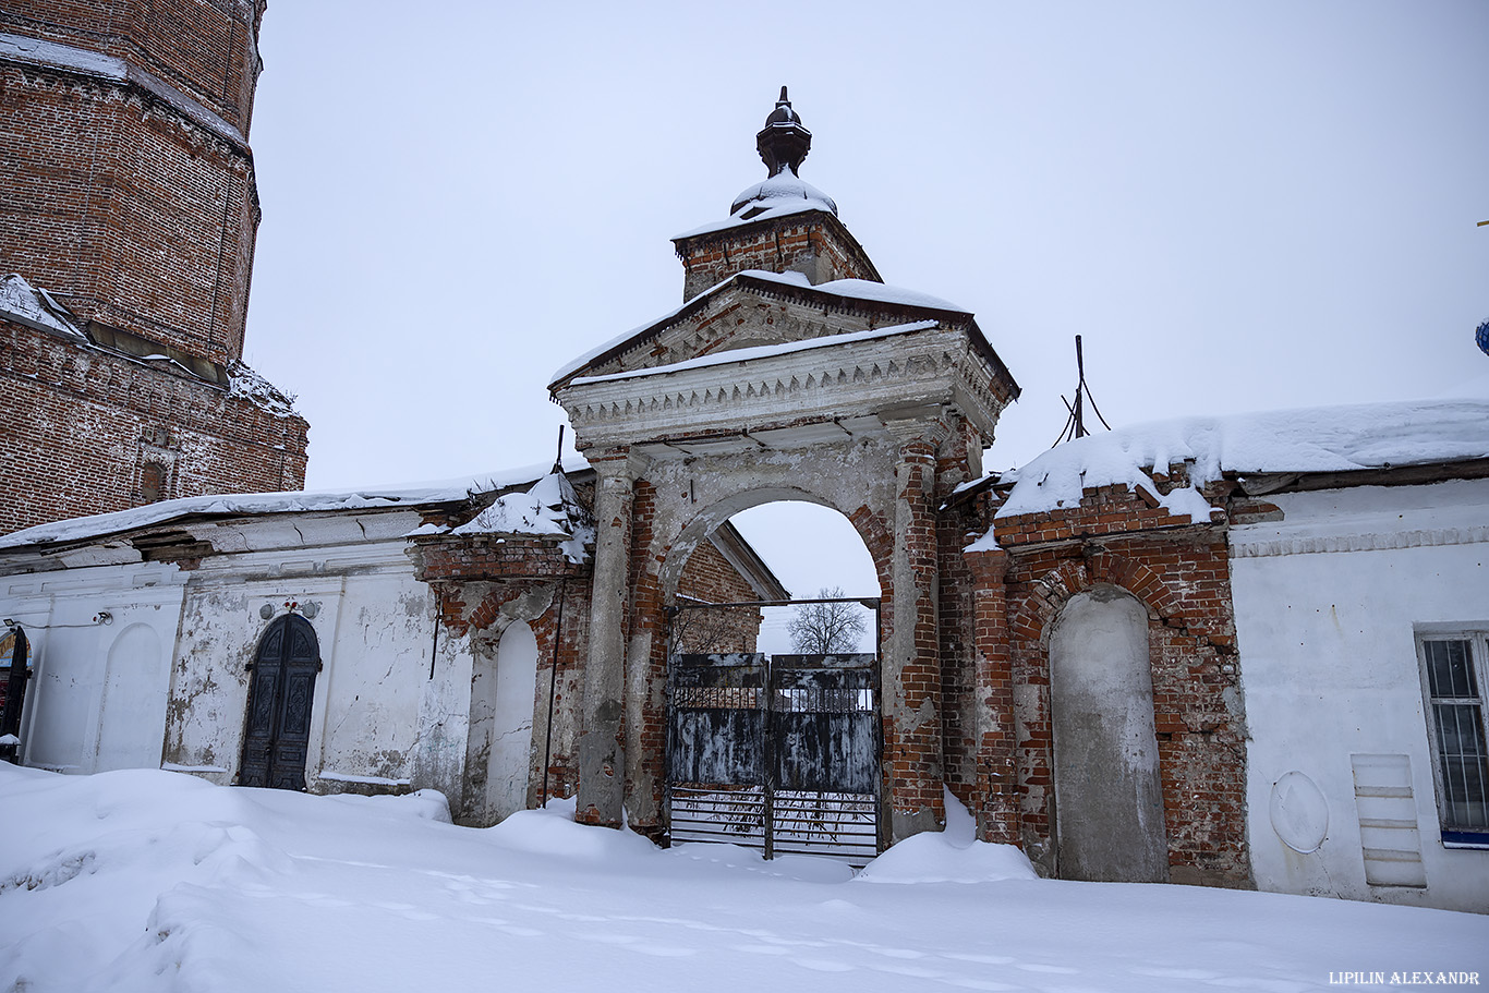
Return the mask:
M1267 499L1284 521L1231 531L1257 886L1489 911L1489 850L1441 840L1416 643L1489 630L1489 479Z

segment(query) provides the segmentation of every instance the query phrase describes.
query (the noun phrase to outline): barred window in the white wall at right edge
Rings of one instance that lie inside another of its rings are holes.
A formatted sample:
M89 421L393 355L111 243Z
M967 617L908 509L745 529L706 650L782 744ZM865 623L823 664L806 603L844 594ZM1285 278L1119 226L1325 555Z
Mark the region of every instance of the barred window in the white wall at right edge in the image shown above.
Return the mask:
M1418 637L1443 844L1489 847L1483 631Z

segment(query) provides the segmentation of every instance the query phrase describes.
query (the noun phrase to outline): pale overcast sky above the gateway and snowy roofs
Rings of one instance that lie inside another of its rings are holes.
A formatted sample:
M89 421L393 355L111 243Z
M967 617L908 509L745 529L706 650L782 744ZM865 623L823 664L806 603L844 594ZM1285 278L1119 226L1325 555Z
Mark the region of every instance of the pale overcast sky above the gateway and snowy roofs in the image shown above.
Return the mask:
M274 0L261 51L247 359L310 488L551 460L549 374L680 302L782 83L803 179L1023 386L989 467L1075 333L1114 426L1489 372L1482 0Z

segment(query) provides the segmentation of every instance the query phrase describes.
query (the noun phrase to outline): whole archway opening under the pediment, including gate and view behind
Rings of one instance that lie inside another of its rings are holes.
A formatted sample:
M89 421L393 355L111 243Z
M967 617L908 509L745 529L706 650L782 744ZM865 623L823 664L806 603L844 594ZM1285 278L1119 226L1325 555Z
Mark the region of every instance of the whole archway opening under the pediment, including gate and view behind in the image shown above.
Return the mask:
M669 610L673 841L874 858L879 593L855 526L814 503L737 511L692 548Z

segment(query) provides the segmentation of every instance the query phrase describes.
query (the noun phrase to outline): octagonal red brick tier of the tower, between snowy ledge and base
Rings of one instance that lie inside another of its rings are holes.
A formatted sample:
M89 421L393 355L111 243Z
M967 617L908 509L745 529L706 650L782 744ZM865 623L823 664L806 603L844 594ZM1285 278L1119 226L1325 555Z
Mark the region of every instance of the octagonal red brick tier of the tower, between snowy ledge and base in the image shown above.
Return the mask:
M246 146L127 88L0 66L0 271L83 320L226 365L258 228Z

